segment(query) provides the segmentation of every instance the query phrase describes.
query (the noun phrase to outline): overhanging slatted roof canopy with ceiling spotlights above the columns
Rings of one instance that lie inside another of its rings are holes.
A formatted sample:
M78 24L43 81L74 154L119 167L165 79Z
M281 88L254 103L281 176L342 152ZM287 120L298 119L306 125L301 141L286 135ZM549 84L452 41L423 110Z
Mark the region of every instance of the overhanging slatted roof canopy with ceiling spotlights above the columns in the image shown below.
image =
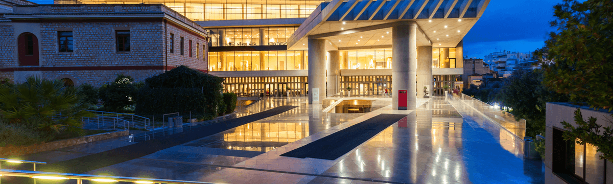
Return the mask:
M417 45L455 47L490 0L333 0L323 2L289 38L289 50L306 50L307 38L330 40L339 50L392 45L398 21L419 25Z

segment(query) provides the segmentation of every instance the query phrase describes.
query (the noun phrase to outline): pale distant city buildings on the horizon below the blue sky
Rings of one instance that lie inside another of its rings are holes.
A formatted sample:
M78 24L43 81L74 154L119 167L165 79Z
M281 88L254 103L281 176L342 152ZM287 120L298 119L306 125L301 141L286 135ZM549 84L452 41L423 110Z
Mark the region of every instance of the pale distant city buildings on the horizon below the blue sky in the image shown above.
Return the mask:
M533 68L531 64L536 63L531 53L510 51L493 52L484 56L483 60L499 77L509 77L516 69Z

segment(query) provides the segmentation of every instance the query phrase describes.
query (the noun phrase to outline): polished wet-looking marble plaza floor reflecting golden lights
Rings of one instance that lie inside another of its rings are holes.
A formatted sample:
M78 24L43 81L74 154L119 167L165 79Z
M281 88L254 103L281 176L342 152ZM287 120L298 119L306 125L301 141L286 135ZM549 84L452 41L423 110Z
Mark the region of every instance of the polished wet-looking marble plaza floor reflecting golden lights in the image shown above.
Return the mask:
M86 174L249 184L544 183L543 163L524 160L521 139L461 103L418 99L416 110L387 105L370 113L340 114L322 112L322 105L309 105L306 98L265 98L237 116L280 105L299 107ZM381 113L407 116L333 161L280 156ZM32 158L69 159L128 144L118 138Z

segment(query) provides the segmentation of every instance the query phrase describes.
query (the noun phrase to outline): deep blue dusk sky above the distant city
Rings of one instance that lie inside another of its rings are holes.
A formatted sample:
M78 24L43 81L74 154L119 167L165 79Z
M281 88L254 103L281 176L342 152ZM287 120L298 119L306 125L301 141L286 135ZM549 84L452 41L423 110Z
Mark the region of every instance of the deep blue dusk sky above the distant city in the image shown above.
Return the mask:
M51 0L33 0L53 4ZM554 5L562 0L492 0L464 37L464 55L483 58L496 50L533 52L541 48L554 20Z

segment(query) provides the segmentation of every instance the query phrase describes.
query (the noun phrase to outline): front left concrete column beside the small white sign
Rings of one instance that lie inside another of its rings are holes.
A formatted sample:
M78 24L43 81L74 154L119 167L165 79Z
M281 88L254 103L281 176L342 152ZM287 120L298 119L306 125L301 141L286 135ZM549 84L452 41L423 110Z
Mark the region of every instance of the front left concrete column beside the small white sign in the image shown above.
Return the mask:
M308 39L308 103L321 104L326 98L326 40ZM319 88L319 102L313 103L313 88Z

